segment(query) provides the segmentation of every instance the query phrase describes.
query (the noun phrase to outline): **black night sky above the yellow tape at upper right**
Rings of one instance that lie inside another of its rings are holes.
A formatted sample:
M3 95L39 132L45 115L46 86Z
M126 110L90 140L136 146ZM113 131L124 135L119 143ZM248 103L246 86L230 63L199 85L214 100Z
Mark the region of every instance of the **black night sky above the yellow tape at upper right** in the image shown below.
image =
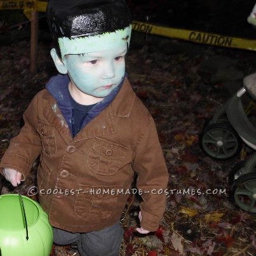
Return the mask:
M151 15L151 22L170 27L256 37L246 22L254 4L252 0L141 0L131 1L130 6L133 18L138 20Z

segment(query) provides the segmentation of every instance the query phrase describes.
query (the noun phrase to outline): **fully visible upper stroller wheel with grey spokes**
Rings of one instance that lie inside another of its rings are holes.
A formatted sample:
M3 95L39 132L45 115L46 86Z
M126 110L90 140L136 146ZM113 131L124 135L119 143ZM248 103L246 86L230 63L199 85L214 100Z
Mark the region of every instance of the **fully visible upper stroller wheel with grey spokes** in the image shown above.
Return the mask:
M241 150L241 138L229 123L213 123L200 133L199 146L210 158L226 160Z

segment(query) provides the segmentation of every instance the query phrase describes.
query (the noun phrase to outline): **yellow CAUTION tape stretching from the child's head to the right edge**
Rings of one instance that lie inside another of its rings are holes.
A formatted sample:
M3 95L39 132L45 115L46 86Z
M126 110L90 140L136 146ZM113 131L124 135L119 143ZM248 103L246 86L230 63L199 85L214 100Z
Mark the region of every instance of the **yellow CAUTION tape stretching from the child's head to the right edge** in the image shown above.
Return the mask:
M256 51L256 40L239 37L222 36L196 30L174 29L172 27L160 27L152 24L133 22L133 30L156 34L159 36L172 37L191 41L194 43L212 44L214 46L224 46L229 48L239 48Z

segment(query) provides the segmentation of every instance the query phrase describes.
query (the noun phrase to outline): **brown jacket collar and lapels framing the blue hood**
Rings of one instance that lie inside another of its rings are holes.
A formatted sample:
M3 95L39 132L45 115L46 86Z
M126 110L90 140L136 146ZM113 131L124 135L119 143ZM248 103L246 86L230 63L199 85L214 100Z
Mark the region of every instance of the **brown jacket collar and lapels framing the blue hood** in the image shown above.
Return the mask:
M127 77L125 77L123 86L121 86L121 89L118 91L118 94L114 100L112 100L111 104L102 110L97 116L97 119L92 119L74 138L72 138L69 126L62 116L60 109L57 107L57 100L53 98L48 91L45 91L43 95L43 98L48 100L48 104L46 104L44 108L44 116L51 125L60 131L62 138L69 144L72 140L79 141L116 133L117 128L113 117L129 118L135 97L136 95ZM69 106L67 105L67 107Z

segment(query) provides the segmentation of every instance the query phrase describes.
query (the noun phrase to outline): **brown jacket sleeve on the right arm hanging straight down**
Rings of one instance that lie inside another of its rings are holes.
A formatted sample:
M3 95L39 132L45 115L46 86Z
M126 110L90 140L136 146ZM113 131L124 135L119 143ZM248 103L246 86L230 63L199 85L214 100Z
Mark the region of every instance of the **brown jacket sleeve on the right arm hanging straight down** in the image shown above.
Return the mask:
M148 231L156 231L166 207L168 170L151 116L138 141L133 170L138 174L137 188L142 191L140 226Z

